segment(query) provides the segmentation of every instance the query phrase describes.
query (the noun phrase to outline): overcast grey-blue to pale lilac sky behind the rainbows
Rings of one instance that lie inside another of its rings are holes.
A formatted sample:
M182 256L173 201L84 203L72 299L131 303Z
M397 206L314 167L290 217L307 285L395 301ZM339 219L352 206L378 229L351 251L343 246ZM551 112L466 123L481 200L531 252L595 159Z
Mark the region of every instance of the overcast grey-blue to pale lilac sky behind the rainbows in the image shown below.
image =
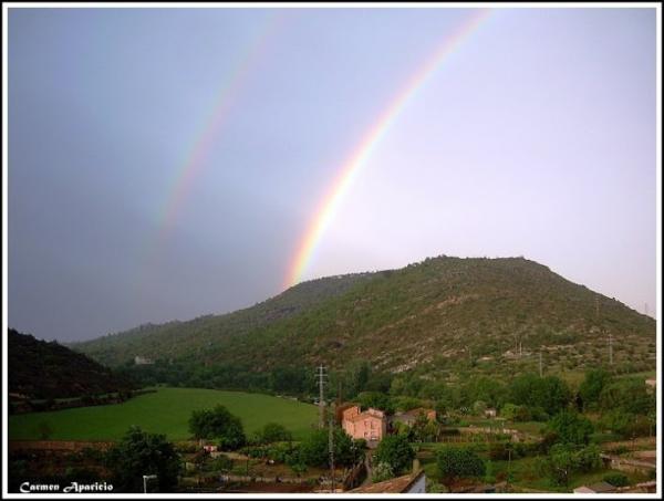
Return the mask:
M10 9L9 325L85 340L281 292L345 159L470 14ZM655 34L654 9L494 10L304 279L523 255L653 314Z

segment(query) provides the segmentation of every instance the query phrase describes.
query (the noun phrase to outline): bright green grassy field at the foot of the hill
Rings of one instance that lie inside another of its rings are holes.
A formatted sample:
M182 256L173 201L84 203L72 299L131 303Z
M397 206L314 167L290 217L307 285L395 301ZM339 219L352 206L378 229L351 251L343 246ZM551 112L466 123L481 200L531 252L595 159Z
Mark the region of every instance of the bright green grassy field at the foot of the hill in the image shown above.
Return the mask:
M197 388L158 388L123 404L79 407L50 413L10 416L10 439L39 439L46 422L51 440L118 440L131 425L165 434L170 440L190 438L187 421L193 410L217 404L242 420L249 435L266 422L279 422L295 439L302 439L318 422L318 409L310 404L241 392Z

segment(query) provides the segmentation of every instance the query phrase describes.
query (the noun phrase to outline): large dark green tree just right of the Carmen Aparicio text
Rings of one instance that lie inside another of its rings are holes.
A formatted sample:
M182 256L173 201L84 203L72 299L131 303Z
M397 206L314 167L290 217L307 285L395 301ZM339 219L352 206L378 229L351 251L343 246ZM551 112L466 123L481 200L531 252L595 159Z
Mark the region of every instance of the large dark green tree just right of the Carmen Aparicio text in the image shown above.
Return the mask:
M173 492L180 471L180 458L165 435L131 427L124 438L106 455L113 473L114 491L143 492L143 476L156 474L157 492Z

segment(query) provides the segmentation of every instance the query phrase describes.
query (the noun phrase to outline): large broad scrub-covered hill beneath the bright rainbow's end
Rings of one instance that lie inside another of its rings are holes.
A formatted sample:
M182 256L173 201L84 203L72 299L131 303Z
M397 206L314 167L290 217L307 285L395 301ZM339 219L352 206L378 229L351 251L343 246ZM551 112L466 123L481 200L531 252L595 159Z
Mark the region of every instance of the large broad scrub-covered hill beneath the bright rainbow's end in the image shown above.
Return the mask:
M655 321L522 258L429 258L400 270L298 284L250 309L153 325L75 348L108 364L149 353L184 366L236 364L269 374L366 361L427 378L655 366Z

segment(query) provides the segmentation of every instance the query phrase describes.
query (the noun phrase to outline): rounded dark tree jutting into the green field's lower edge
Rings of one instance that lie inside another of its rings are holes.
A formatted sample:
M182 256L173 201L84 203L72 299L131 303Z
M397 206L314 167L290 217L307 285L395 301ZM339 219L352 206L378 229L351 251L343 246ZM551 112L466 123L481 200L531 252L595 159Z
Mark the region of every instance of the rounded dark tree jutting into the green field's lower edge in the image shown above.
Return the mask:
M228 450L239 449L247 441L242 421L222 405L191 413L189 431L198 439L219 439L219 446Z

